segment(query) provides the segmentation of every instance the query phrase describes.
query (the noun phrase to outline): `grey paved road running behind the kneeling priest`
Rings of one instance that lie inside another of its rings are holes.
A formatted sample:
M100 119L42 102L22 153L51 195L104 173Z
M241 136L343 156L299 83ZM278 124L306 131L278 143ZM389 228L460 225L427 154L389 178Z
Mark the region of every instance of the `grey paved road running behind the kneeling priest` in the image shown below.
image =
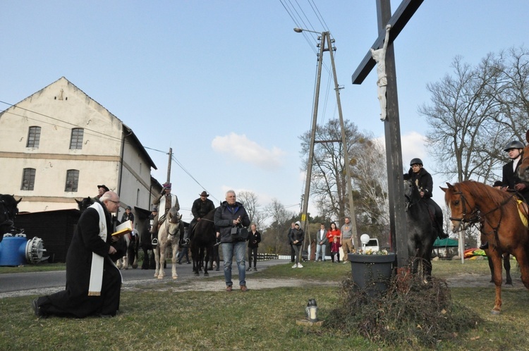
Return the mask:
M281 259L258 261L257 269L265 269L267 266L286 263L290 263L290 261ZM233 273L236 274L237 265L235 263L233 264L232 269ZM193 275L192 264L178 264L176 266L176 272L178 273L178 281L186 281L191 278L197 279ZM154 269L127 269L121 271L121 275L123 276L123 285L125 287L135 285L142 281L143 283L145 283L145 281L159 283L171 281L171 264L167 264L165 273L166 277L161 280L154 278ZM253 274L254 271L249 271L246 273ZM210 277L223 276L223 274L224 272L222 270L222 262L221 269L219 271L209 271ZM202 272L200 272L200 278L202 277ZM64 289L65 285L66 271L5 273L0 274L0 298L49 294Z

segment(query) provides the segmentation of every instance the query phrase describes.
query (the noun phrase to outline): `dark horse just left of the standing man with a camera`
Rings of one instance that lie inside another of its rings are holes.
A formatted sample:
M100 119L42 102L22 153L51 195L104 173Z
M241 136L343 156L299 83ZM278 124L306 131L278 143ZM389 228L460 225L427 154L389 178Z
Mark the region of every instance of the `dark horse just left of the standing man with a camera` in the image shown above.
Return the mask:
M215 216L215 211L217 209L209 211L207 215L200 218L195 228L188 230L186 236L183 238L185 243L190 242L195 276L200 275L198 272L204 259L206 260L206 264L204 264L204 275L209 276L209 273L207 273L207 262L213 258L213 245L215 244L215 223L213 217Z

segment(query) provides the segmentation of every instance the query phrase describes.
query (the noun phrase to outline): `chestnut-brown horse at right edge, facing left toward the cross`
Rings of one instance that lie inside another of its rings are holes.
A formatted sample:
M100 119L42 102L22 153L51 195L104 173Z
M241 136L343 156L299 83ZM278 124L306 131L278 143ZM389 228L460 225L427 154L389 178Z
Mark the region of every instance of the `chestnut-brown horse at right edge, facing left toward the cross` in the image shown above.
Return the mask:
M441 187L444 200L450 207L450 220L454 233L475 225L481 230L482 238L489 242L489 259L494 266L496 298L492 314L501 311L501 259L504 253L513 254L521 269L525 288L529 289L529 235L528 214L518 205L515 193L494 189L489 185L466 180Z

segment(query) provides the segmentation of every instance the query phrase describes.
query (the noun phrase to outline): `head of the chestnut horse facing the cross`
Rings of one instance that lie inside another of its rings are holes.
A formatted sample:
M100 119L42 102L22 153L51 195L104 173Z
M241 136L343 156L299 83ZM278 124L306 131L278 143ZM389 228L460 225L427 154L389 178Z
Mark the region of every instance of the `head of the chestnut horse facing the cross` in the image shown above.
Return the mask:
M450 209L450 221L452 223L452 232L457 233L465 230L468 223L475 219L475 202L473 197L463 192L461 183L451 185L446 183L447 187L440 187L444 191L444 202Z

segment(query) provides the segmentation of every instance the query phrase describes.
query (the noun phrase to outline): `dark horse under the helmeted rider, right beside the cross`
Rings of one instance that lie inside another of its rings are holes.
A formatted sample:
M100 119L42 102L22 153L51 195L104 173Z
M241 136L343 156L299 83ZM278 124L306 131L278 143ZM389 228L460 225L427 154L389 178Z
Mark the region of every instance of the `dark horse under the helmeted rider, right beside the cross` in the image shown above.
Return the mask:
M408 255L413 259L412 273L424 278L432 276L432 250L437 229L430 216L428 205L420 197L417 185L408 174L404 174L404 197L406 197L406 221L408 223Z

